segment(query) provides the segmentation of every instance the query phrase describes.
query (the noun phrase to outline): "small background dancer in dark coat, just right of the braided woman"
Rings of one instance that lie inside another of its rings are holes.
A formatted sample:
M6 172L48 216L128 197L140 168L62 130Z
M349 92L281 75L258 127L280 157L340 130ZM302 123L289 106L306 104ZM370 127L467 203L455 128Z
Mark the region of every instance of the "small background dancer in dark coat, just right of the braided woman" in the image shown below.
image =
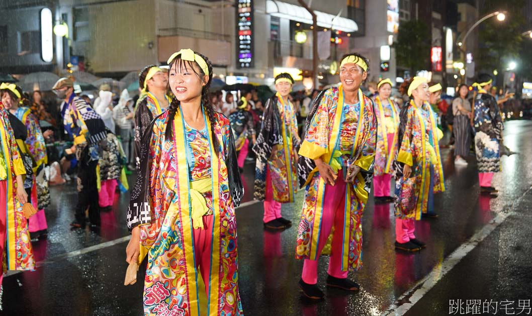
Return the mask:
M242 97L237 104L237 111L229 115L231 128L235 132L235 146L238 152L238 169L244 171L244 162L246 161L247 152L250 147L250 138L255 145L255 124L250 113L251 104L247 103L245 97Z

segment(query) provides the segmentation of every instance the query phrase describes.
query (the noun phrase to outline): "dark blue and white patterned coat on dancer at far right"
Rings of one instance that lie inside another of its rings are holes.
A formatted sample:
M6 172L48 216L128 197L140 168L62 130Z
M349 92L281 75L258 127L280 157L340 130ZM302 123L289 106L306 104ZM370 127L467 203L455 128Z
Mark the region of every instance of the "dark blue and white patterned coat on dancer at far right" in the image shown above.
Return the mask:
M480 90L475 98L473 115L478 172L499 172L503 122L495 98Z

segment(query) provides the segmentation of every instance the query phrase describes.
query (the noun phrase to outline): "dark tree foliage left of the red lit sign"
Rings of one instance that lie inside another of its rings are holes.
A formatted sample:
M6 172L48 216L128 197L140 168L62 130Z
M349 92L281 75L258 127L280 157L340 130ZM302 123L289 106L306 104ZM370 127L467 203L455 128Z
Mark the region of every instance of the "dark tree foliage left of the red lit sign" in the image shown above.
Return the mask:
M419 20L401 22L395 48L397 64L408 68L412 75L427 69L430 59L430 28Z

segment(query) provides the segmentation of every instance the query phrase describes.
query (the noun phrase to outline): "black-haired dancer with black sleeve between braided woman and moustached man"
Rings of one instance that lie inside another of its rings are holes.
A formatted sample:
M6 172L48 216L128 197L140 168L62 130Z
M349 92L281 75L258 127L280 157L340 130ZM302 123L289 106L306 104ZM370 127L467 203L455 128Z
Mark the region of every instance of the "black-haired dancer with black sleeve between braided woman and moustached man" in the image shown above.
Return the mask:
M253 146L255 199L264 201L264 227L284 229L292 221L281 216L281 203L294 202L297 190L297 152L301 142L297 133L296 110L288 95L294 79L283 72L275 77L277 93L266 103L262 127Z

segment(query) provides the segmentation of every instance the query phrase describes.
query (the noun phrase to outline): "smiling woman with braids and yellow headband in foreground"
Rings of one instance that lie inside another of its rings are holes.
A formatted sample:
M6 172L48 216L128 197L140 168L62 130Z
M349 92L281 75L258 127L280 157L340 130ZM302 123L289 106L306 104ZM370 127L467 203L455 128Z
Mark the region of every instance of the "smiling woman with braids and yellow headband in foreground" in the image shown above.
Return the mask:
M126 260L147 256L146 315L242 315L235 207L243 186L230 123L209 102L205 56L181 49L168 64L174 98L142 139Z

